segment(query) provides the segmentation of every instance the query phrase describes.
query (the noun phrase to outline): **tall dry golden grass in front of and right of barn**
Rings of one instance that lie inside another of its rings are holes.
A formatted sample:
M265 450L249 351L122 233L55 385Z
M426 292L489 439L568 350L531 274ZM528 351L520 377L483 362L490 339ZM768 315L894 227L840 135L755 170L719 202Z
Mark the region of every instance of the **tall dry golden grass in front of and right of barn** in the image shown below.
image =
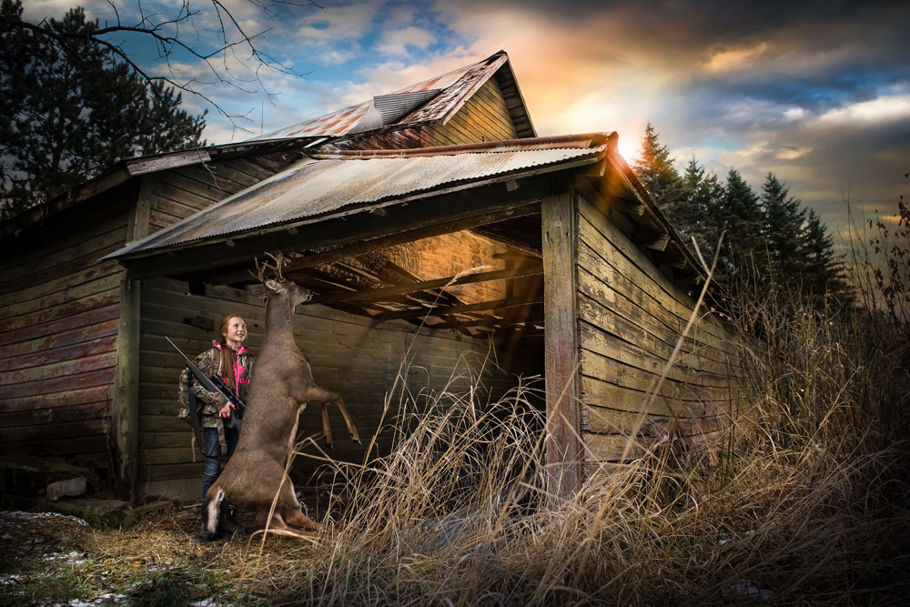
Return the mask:
M652 453L561 501L541 478L540 382L482 407L399 389L413 430L368 467L335 466L335 518L268 572L271 600L905 604L905 327L746 300L738 318L763 339L745 447Z

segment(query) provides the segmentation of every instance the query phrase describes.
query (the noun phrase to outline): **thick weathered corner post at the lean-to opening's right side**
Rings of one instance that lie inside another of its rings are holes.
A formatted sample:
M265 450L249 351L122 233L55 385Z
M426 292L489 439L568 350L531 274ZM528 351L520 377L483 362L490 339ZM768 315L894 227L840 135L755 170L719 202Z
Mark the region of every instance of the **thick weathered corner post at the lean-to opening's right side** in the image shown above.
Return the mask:
M581 482L575 258L577 213L571 189L541 203L547 491L567 496Z

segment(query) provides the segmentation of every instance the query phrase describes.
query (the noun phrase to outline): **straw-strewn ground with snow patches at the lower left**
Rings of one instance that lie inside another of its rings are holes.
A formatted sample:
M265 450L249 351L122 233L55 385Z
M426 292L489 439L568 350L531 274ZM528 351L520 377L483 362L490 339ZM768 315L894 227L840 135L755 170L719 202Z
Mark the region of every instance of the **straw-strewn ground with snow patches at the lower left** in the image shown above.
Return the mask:
M198 508L146 515L126 531L54 513L0 512L0 603L199 605L268 603L284 543L257 535L200 544ZM251 517L240 521L255 526Z

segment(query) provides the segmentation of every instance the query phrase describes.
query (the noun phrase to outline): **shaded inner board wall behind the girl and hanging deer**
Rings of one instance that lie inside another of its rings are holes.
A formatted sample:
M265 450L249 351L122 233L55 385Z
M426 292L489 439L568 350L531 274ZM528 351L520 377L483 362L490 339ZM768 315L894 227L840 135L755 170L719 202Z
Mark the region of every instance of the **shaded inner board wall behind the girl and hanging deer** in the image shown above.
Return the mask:
M247 322L248 345L257 352L264 332L265 308L261 298L227 287L206 288L205 296L187 295L187 285L171 279L149 280L143 283L141 306L141 354L139 373L139 482L140 492L193 495L198 491L202 463L193 462L190 448L192 432L183 420L177 419L177 377L181 360L164 339L168 336L177 345L195 356L211 347L212 331L197 329L184 319L204 317L213 323L228 312L240 314ZM488 353L480 340L457 339L448 331L424 329L415 340L416 327L403 321L376 323L369 319L346 314L322 306L300 306L295 318L295 336L300 349L308 356L313 376L320 386L339 392L357 424L363 444L348 440L341 416L329 409L335 449L332 456L339 460L360 461L370 437L377 431L380 420L386 428L380 434L379 453L389 449L391 429L398 412L398 397L386 417L382 418L386 393L392 388L399 365L410 348L414 363L405 374L410 393L417 396L428 389L443 389L453 370L465 373L452 382L451 389L466 389ZM413 345L411 346L411 342ZM462 359L460 362L460 359ZM503 363L502 357L499 360ZM536 359L525 363L525 375L540 372L529 369ZM482 380L492 392L511 387L515 379L494 371L488 361L483 367ZM477 395L479 403L486 394ZM316 436L321 445L319 408L304 411L300 421L300 436ZM308 452L315 452L310 447ZM374 453L375 454L375 453ZM298 460L302 468L313 470L314 460Z

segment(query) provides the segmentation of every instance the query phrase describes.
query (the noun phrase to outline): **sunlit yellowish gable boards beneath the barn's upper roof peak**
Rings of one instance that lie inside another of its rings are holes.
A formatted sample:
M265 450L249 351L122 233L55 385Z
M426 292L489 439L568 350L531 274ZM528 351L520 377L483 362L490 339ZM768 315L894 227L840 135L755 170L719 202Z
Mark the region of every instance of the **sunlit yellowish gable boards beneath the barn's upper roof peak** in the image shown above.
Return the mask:
M496 78L490 78L445 125L434 122L357 138L342 147L387 149L457 146L484 141L515 139L518 131Z

